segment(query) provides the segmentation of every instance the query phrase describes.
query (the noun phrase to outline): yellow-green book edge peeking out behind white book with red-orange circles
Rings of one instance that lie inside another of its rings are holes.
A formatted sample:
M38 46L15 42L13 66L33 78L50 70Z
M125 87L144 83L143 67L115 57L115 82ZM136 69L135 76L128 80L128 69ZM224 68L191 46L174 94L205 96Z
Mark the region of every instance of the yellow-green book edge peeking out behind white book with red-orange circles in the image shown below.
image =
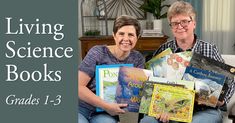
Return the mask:
M151 69L151 64L153 64L156 60L158 60L159 58L162 58L166 55L170 55L170 54L172 54L171 48L165 49L164 51L162 51L161 53L159 53L158 55L156 55L152 59L150 59L148 62L146 62L145 68Z

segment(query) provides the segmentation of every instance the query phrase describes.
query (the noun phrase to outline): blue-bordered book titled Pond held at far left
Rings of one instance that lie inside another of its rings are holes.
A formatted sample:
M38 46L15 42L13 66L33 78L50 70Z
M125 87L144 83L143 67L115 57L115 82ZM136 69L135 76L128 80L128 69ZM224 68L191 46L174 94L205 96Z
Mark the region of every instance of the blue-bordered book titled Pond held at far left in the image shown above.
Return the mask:
M116 102L116 88L118 85L118 72L121 66L133 67L133 64L113 64L96 66L96 95L106 102ZM103 111L97 108L97 111Z

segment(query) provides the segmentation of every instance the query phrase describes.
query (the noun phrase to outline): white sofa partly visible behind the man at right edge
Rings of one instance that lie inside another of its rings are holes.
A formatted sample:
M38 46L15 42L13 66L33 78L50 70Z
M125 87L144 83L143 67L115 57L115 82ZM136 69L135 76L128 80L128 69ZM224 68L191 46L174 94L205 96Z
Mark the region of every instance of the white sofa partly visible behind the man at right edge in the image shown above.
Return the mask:
M225 61L226 64L235 66L235 55L225 55L222 54L222 57ZM235 105L235 94L233 94L232 98L230 99L230 102L228 103L228 111L227 112L223 112L223 123L232 123L233 121L231 119L228 118L228 114L229 112L232 110L232 106ZM235 122L235 121L234 121Z

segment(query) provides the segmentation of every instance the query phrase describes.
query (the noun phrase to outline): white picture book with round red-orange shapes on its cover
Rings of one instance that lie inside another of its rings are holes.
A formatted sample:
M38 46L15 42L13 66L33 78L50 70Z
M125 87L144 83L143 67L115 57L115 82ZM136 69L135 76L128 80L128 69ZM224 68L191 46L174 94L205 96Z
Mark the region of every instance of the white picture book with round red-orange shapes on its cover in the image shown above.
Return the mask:
M153 75L156 77L182 79L191 57L191 51L166 55L151 64L151 70L153 70Z

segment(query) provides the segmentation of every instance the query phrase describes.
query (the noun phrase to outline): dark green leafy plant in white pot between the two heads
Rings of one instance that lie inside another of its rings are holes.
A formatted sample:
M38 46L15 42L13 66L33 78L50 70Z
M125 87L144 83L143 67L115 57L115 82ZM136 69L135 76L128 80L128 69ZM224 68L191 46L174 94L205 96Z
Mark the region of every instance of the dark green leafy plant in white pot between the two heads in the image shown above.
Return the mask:
M162 13L163 8L168 8L170 5L162 4L165 0L145 0L140 6L140 9L153 14L154 29L162 31L162 18L167 17L167 12Z

